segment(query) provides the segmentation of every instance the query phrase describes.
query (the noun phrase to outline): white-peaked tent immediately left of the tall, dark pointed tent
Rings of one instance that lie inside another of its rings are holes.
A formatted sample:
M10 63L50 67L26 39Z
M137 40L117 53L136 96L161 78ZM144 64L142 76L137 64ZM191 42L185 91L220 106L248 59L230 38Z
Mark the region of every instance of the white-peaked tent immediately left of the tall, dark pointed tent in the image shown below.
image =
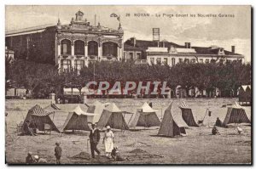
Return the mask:
M130 127L159 127L160 120L155 112L156 110L152 109L145 102L143 106L137 110Z

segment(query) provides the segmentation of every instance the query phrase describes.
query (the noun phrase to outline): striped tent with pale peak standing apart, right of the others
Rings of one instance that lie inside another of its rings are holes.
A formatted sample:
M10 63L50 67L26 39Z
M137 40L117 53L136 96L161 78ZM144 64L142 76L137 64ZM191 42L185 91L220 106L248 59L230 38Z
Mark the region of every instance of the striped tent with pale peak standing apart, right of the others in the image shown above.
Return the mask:
M230 123L251 123L251 115L249 114L247 108L235 103L231 107L228 107L227 114L223 121L223 126L225 127Z

